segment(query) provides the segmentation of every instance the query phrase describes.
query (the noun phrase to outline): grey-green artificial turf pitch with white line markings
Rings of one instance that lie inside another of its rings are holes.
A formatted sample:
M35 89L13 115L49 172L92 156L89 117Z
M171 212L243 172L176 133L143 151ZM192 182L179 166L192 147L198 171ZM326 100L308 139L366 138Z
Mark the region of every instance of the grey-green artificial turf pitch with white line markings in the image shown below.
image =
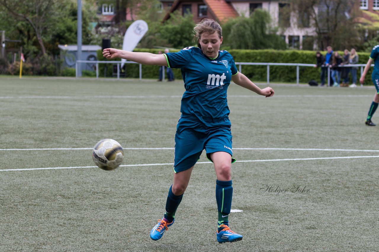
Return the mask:
M0 251L379 251L374 87L272 87L229 87L229 220L244 237L219 244L205 152L175 224L149 237L172 183L182 81L0 77ZM104 138L124 147L113 171L92 161Z

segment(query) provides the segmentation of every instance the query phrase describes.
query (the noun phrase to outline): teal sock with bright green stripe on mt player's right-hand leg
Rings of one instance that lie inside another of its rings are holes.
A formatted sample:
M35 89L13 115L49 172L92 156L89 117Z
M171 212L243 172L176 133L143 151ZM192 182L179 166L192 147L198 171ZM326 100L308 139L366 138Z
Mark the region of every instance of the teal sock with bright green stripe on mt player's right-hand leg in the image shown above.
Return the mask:
M222 224L229 226L229 213L232 207L233 187L232 181L216 180L216 201L218 209L218 232L223 228Z

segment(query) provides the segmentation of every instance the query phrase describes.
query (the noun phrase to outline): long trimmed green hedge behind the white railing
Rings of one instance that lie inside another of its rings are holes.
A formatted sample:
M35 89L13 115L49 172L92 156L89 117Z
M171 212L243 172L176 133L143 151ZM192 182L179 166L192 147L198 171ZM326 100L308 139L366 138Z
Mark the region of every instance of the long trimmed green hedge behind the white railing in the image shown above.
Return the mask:
M148 52L157 54L160 49L135 49L136 52ZM174 52L174 51L172 51ZM300 50L237 50L230 49L229 53L232 54L235 62L271 62L271 63L316 63L315 51L300 51ZM321 52L323 55L326 51ZM343 55L343 51L338 51L340 55ZM370 53L358 53L359 64L367 63ZM102 51L97 52L99 60L105 60L102 56ZM117 61L121 59L115 59ZM112 67L107 65L106 76L112 76ZM238 66L237 66L238 67ZM104 76L105 64L99 64L99 76ZM241 72L245 74L249 79L256 82L266 82L267 66L241 66ZM130 78L139 77L139 65L138 64L125 64L124 70L125 76ZM175 79L181 79L182 74L180 69L173 69ZM299 82L308 83L309 80L320 80L320 68L314 68L310 66L299 67ZM371 84L371 71L366 75L366 83ZM151 65L142 66L142 77L158 79L159 67ZM357 78L360 76L360 68L358 69ZM270 82L296 82L296 66L270 66Z

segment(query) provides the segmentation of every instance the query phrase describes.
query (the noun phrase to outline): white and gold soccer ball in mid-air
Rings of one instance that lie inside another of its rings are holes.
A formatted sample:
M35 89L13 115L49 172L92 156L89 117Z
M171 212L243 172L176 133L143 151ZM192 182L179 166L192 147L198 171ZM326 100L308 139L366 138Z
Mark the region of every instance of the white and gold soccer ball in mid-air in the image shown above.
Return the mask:
M92 159L101 169L114 170L124 159L124 150L121 145L113 139L103 139L97 142L92 150Z

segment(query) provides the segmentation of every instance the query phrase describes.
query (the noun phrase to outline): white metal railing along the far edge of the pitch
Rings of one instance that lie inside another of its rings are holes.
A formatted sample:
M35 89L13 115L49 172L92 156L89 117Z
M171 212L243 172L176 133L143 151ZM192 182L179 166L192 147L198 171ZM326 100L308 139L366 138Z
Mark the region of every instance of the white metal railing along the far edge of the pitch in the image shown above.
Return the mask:
M117 64L117 79L120 79L120 65L121 61L92 61L92 60L77 60L75 63L76 77L78 78L78 63L93 63L96 64L96 79L99 78L99 63L106 64ZM139 64L133 61L125 62L127 64ZM238 65L238 71L242 73L242 65L255 65L255 66L267 66L267 84L270 83L270 66L296 66L296 85L299 85L299 66L310 66L315 67L315 64L303 64L303 63L263 63L263 62L235 62ZM352 64L352 65L338 65L339 67L351 67L351 66L360 66L360 73L362 74L363 68L366 64ZM374 66L372 64L371 66ZM330 68L327 69L327 83L330 87ZM139 79L142 80L142 64L139 64ZM358 79L358 77L357 77ZM164 71L163 71L163 80L164 80Z

